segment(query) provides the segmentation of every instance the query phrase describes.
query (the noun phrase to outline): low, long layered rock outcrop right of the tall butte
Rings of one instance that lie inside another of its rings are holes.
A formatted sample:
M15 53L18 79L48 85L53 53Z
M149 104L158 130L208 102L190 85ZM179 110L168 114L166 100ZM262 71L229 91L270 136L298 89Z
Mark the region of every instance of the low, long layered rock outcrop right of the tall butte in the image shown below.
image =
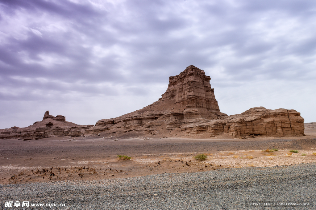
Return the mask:
M181 128L190 134L207 133L216 136L228 133L236 136L274 136L289 137L304 135L304 119L295 110L269 110L264 107L251 108L238 115L224 119L201 123L197 126L188 125Z

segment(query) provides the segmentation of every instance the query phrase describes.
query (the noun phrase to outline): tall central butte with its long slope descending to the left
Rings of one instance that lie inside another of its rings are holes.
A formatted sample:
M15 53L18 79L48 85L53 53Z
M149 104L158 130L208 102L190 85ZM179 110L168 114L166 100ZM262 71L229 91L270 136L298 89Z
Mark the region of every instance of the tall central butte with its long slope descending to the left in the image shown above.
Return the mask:
M121 117L99 120L85 134L152 131L152 121L173 130L187 121L205 122L227 116L218 107L210 79L203 70L190 65L179 75L169 77L167 91L158 101Z

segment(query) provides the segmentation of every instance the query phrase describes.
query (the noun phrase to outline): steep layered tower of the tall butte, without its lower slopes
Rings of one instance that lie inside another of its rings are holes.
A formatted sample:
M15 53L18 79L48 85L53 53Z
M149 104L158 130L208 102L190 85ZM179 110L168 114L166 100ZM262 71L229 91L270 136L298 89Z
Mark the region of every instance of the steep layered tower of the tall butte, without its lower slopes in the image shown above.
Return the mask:
M215 114L221 111L210 79L203 70L190 65L179 75L169 77L167 91L162 94L161 99L175 99L176 103L185 106L185 119L216 119Z

